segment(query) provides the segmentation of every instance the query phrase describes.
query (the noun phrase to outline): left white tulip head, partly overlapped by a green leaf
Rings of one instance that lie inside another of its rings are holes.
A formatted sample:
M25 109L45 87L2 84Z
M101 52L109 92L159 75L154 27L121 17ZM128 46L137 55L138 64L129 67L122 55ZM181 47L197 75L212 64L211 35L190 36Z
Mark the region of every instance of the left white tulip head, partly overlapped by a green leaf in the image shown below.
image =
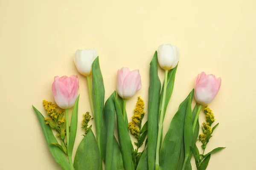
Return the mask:
M85 48L83 50L76 50L74 62L80 74L89 76L92 71L93 61L98 57L95 48Z

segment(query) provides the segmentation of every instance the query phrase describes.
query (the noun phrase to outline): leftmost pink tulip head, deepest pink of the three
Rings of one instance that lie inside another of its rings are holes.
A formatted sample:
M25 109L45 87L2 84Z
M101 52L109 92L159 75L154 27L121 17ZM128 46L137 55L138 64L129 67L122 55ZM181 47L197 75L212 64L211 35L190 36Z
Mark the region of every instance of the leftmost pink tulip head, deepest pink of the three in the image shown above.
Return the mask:
M72 108L76 102L78 88L79 81L75 75L54 77L52 92L56 104L62 109Z

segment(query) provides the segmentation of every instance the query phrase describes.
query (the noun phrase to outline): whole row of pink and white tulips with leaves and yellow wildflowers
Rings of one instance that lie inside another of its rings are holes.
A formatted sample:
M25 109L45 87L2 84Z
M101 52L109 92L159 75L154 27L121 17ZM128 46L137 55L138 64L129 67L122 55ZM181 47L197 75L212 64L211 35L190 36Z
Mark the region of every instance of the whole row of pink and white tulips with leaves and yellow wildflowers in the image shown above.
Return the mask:
M163 136L163 122L165 115L169 114L166 108L172 96L179 56L180 51L176 46L159 46L149 67L148 113L144 111L143 97L139 96L129 122L126 101L143 87L139 70L119 69L116 91L105 101L104 81L96 49L77 50L74 62L79 73L87 79L90 113L82 111L83 114L79 110L79 79L75 75L54 78L52 93L56 104L43 100L47 113L43 115L33 106L49 151L62 169L192 170L191 158L194 156L197 170L205 170L211 154L224 149L218 147L205 153L209 139L218 126L208 104L217 95L221 78L204 72L198 74L195 88L180 103ZM158 77L158 64L165 72L163 85ZM197 104L192 109L193 96ZM202 107L206 119L200 123L198 117ZM70 108L73 108L73 112L69 121ZM148 114L147 121L143 121L145 114ZM81 123L78 123L78 116L83 116ZM89 126L89 121L94 121L94 124ZM114 136L115 123L118 136ZM199 135L200 124L202 134ZM84 129L84 138L78 149L73 151L78 126ZM96 127L95 133L91 130L92 126ZM131 136L137 139L135 147ZM202 143L201 154L197 141Z

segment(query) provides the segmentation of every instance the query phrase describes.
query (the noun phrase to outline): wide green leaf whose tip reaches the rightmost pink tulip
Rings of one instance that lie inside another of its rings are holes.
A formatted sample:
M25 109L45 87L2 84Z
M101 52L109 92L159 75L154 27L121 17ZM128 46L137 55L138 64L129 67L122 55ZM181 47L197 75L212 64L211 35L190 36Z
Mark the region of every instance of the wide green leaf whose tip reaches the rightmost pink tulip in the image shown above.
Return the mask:
M194 89L183 101L175 116L172 118L169 130L163 140L163 147L160 152L160 169L176 170L183 143L184 122L186 116L187 103L194 95ZM182 162L183 164L183 162Z

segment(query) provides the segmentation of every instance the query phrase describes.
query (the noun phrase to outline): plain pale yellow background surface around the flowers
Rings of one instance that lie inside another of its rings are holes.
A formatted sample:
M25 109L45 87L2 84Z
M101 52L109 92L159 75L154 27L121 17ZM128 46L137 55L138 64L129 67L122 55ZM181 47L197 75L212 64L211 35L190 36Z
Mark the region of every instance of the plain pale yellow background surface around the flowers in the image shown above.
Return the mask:
M212 155L207 170L255 170L255 7L255 0L0 0L0 170L61 170L31 105L45 114L42 100L53 101L53 77L77 74L79 122L90 111L76 49L98 50L105 99L116 88L117 69L140 69L136 96L147 108L149 62L166 42L180 48L180 63L164 134L195 76L215 74L222 85L209 106L220 125L207 152L227 148ZM127 102L130 120L136 96ZM75 150L82 133L78 128Z

